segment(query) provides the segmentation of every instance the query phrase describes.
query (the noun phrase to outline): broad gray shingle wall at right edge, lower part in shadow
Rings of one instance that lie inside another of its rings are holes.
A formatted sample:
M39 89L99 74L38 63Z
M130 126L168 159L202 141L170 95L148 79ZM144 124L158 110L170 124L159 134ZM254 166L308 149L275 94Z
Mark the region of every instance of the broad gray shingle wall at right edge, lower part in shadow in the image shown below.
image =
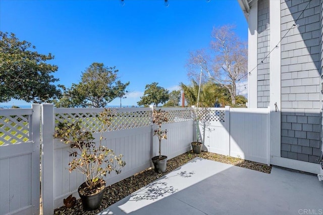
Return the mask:
M281 41L281 156L317 163L322 125L319 64L323 63L323 0L308 3L309 0L281 1L281 37L286 34ZM292 27L298 17L299 27Z

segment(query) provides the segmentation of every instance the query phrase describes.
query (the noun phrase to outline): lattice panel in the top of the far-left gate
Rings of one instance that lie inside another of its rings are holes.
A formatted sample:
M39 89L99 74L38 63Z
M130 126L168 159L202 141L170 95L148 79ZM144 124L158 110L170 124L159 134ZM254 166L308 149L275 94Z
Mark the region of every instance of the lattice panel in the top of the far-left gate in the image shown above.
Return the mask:
M0 116L0 145L29 141L29 117L29 115Z

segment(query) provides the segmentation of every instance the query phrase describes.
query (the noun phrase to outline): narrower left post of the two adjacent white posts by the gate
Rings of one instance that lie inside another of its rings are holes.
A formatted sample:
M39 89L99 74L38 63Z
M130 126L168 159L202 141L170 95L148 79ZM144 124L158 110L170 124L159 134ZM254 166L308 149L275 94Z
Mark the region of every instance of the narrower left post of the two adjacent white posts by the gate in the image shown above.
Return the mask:
M32 199L32 211L33 214L39 214L39 162L40 162L40 104L32 104L32 115L31 115L31 140L33 142L33 154L32 154L32 190L31 190L31 199ZM30 131L30 130L29 130Z

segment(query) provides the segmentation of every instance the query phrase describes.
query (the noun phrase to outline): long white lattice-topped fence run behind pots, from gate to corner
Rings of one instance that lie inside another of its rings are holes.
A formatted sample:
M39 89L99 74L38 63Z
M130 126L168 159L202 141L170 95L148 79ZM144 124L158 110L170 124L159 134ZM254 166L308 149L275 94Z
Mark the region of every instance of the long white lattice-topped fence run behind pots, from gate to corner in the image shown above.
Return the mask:
M159 109L159 108L157 108ZM186 108L161 108L169 113L169 122L162 126L168 129L169 138L163 140L161 153L168 158L178 156L190 149L193 129L191 112ZM151 167L151 157L158 153L158 141L153 138L151 122L152 108L115 109L117 117L111 130L103 133L103 144L123 154L126 166L121 174L107 175L106 185L111 185ZM84 182L83 175L75 171L69 173L69 147L52 137L58 122L82 120L84 127L97 132L97 116L103 109L56 109L51 104L43 104L43 155L42 155L42 200L44 214L63 205L63 199L73 194ZM54 116L54 117L53 117ZM98 133L93 135L96 139ZM52 186L51 186L52 185Z

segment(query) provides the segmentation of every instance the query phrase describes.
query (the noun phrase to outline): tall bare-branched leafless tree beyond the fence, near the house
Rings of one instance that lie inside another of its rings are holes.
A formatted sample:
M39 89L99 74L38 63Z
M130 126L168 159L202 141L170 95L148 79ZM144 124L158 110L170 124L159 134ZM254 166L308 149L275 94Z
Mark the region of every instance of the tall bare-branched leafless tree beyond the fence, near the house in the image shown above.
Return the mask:
M236 103L236 83L247 73L247 43L234 32L235 26L214 27L211 33L210 51L203 49L190 52L188 76L198 80L200 70L203 81L212 80L226 87L231 95L232 104Z

